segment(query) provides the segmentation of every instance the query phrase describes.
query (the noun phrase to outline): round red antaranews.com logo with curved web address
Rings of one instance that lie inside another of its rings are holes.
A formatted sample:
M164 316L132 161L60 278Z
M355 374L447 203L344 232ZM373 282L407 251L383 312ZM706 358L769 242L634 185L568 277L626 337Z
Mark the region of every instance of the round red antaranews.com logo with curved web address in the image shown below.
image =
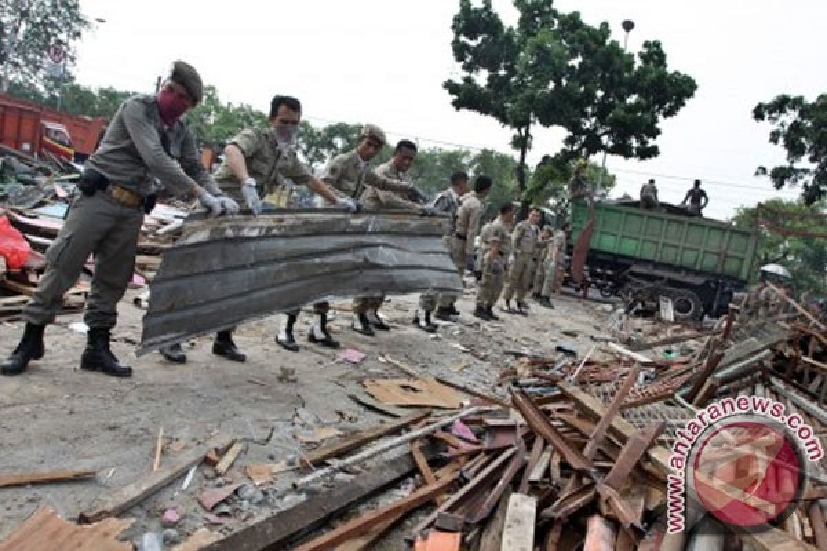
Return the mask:
M700 505L739 530L766 530L801 501L806 466L824 457L815 431L763 397L716 401L677 431L668 477L667 531L687 526Z

